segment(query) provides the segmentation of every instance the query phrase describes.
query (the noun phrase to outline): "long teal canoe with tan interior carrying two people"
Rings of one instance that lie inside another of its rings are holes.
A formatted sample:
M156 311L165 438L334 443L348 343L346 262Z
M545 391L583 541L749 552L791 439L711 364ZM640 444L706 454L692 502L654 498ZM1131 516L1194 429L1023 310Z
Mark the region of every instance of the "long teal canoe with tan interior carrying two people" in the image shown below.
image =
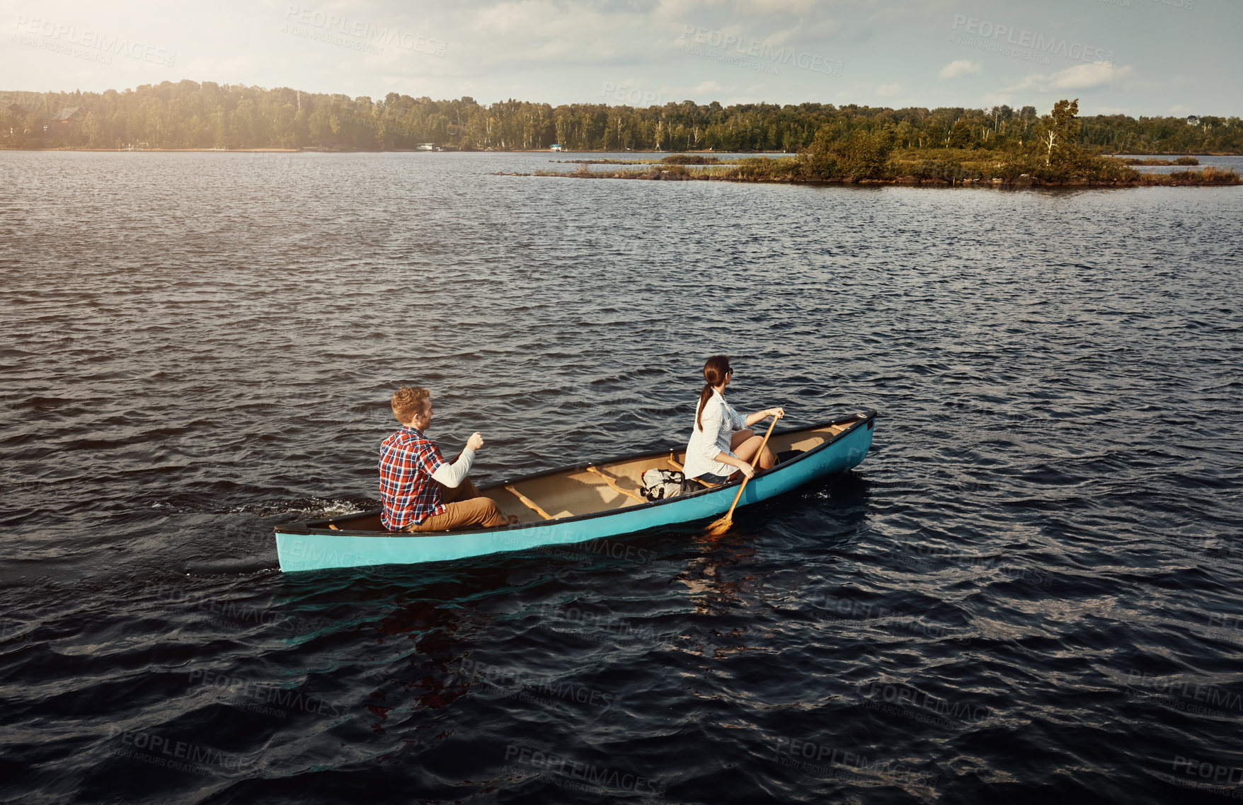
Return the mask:
M787 453L772 470L757 472L738 506L766 501L855 467L871 447L876 412L773 432L769 446ZM342 514L276 527L281 570L324 570L384 564L450 562L466 557L589 542L717 517L728 511L738 481L649 502L640 477L653 467L681 466L681 451L648 452L501 481L480 487L517 522L481 530L394 533L379 511ZM512 518L511 518L512 519Z

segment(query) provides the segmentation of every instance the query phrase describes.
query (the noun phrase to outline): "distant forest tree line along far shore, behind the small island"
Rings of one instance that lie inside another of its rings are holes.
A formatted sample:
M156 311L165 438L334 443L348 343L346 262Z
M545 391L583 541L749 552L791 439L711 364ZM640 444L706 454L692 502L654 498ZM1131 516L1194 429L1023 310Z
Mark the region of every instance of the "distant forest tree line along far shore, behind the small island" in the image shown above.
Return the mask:
M1238 117L1075 117L1057 138L1094 153L1243 153ZM1034 107L873 108L691 101L646 108L474 98L383 101L240 84L143 84L117 92L0 93L0 148L319 148L802 152L886 133L899 149L1023 150L1048 138Z

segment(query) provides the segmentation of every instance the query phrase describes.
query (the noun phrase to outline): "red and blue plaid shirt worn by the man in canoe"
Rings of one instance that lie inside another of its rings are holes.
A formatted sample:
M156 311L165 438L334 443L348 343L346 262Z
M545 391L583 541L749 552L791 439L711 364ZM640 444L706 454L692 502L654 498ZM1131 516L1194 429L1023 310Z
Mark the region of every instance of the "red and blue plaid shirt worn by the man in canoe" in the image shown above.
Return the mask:
M440 450L424 435L403 426L380 445L380 522L389 530L401 530L441 514L440 484L431 473L447 463Z

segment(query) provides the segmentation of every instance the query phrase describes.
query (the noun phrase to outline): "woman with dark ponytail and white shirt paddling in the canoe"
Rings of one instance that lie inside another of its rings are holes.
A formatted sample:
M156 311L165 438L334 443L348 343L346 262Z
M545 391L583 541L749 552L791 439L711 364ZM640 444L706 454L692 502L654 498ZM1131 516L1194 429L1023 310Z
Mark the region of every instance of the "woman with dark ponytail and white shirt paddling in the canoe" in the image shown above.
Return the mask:
M687 478L725 483L737 478L740 472L752 477L756 473L752 462L763 439L756 436L751 426L769 416L786 416L779 407L747 416L735 411L725 401L725 388L732 379L728 355L712 355L704 364L704 390L695 410L695 427L686 445L686 466L682 468ZM757 463L761 470L773 466L773 453L767 445Z

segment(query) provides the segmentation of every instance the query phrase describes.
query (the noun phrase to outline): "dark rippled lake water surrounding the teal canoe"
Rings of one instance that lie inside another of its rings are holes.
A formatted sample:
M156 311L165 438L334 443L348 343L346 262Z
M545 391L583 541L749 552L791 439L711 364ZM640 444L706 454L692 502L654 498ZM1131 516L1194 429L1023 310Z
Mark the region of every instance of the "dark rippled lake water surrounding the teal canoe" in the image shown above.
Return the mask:
M0 152L6 800L1243 791L1243 190L495 175L549 158ZM871 455L717 543L277 570L399 383L486 482L684 443L718 352Z

